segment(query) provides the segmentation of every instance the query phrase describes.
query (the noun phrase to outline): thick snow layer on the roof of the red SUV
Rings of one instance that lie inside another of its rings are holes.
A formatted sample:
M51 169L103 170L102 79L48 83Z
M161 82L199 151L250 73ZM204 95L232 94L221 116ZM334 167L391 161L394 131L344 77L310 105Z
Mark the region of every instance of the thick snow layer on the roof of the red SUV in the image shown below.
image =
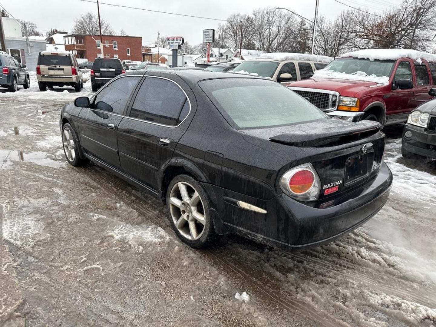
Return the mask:
M422 51L409 50L409 49L367 49L348 52L341 55L341 58L353 57L359 59L369 60L397 60L400 58L410 58L421 63L424 59L430 62L436 62L436 54L431 54Z

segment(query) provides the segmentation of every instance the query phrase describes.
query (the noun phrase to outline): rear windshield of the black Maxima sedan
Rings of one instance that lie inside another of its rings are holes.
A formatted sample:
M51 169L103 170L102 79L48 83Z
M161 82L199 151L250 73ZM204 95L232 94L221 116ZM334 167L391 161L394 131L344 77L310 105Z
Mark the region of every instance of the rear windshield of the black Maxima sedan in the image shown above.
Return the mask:
M324 112L309 101L270 80L219 78L201 81L199 85L237 129L328 119Z

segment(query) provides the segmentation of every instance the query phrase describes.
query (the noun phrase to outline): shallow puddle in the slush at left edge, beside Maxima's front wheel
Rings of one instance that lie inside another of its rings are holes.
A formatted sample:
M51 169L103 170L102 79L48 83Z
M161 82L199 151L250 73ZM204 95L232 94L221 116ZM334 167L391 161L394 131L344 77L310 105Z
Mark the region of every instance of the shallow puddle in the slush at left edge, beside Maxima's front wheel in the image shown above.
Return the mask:
M64 162L50 159L48 153L42 151L24 153L23 151L0 149L0 169L5 169L19 161L29 161L52 168L60 168L65 165Z

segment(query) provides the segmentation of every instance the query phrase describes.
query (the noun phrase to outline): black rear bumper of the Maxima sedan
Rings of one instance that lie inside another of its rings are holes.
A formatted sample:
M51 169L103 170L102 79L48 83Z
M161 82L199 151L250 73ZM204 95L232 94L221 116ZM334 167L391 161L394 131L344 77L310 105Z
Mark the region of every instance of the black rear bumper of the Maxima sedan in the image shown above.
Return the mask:
M295 251L332 242L364 224L386 203L391 184L392 173L382 162L376 177L348 192L346 198L326 199L325 208L323 204L301 203L284 193L262 201L212 188L216 198L221 199L217 211L228 232ZM237 201L267 212L242 209Z

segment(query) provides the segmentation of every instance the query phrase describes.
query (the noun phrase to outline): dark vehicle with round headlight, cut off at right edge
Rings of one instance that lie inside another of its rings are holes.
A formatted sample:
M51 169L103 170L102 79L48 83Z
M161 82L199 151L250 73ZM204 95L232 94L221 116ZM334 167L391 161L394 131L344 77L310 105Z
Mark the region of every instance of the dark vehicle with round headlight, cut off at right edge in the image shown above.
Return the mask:
M436 89L429 95L436 96ZM431 99L410 112L401 143L404 158L436 159L436 99Z

